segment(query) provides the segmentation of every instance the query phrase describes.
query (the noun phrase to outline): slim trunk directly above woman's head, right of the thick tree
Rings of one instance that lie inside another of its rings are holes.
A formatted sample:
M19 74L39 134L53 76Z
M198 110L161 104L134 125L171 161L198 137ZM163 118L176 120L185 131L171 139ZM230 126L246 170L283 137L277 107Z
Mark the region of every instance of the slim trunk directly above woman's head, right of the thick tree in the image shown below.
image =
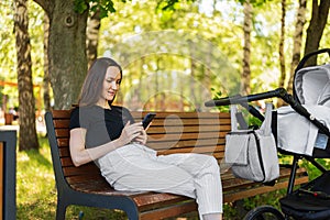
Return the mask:
M87 58L88 67L98 57L98 42L100 31L100 11L97 10L88 18L87 22Z

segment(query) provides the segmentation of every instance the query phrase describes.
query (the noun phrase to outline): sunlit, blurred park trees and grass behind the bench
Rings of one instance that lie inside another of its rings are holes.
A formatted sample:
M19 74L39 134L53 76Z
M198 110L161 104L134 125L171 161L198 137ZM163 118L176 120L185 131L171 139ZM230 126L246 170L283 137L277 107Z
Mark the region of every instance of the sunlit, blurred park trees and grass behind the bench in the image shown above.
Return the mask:
M4 112L19 113L18 219L54 219L43 114L77 101L96 57L123 66L117 102L131 110L211 111L204 102L219 96L292 92L302 55L330 47L327 0L90 2L0 2L0 123ZM246 209L263 199L246 201Z

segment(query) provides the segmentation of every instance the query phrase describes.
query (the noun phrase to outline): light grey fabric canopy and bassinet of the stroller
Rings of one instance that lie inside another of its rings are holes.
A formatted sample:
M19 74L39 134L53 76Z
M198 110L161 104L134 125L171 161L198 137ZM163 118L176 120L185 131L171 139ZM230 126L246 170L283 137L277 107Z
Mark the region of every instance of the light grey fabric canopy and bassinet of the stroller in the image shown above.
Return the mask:
M301 68L295 76L295 92L300 103L312 117L330 128L330 65ZM277 109L277 144L288 152L312 155L314 147L323 148L319 143L324 138L309 119L292 107ZM328 138L326 138L328 139ZM327 143L328 140L322 141Z

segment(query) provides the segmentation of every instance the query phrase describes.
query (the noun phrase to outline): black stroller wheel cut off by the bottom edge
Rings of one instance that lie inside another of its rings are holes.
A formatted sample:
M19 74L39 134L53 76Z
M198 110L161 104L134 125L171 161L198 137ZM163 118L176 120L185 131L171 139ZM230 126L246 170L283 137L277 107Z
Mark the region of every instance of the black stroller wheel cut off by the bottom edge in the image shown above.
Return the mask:
M249 211L244 220L284 220L284 216L272 206L261 206Z

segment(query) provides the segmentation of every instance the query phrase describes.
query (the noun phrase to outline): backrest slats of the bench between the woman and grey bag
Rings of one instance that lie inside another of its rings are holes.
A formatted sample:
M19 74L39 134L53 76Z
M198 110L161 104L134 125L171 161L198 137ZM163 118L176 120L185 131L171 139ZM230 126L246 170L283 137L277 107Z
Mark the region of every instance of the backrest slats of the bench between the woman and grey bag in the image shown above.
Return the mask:
M141 120L146 112L133 112ZM223 158L224 135L230 131L229 113L156 112L147 130L147 146L160 154L204 153Z

